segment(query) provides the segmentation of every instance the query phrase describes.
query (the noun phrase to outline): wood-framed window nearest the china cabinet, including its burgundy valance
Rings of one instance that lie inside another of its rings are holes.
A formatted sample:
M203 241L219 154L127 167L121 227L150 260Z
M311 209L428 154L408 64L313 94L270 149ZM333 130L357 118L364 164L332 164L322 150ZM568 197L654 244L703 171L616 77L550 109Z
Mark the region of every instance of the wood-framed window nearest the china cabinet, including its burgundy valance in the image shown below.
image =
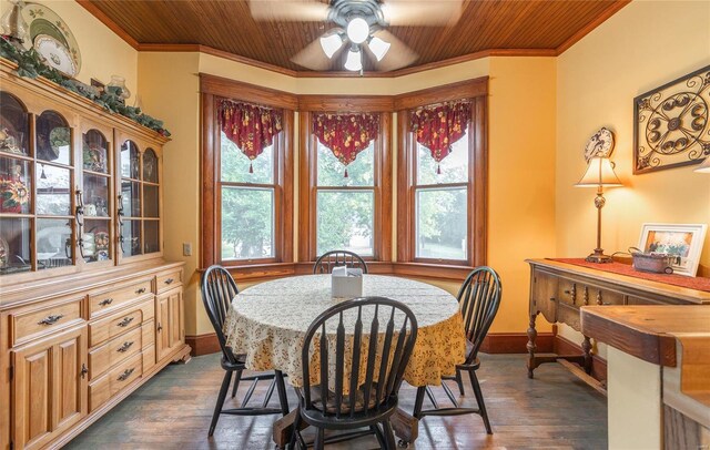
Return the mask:
M292 264L295 96L210 75L201 91L203 267Z

